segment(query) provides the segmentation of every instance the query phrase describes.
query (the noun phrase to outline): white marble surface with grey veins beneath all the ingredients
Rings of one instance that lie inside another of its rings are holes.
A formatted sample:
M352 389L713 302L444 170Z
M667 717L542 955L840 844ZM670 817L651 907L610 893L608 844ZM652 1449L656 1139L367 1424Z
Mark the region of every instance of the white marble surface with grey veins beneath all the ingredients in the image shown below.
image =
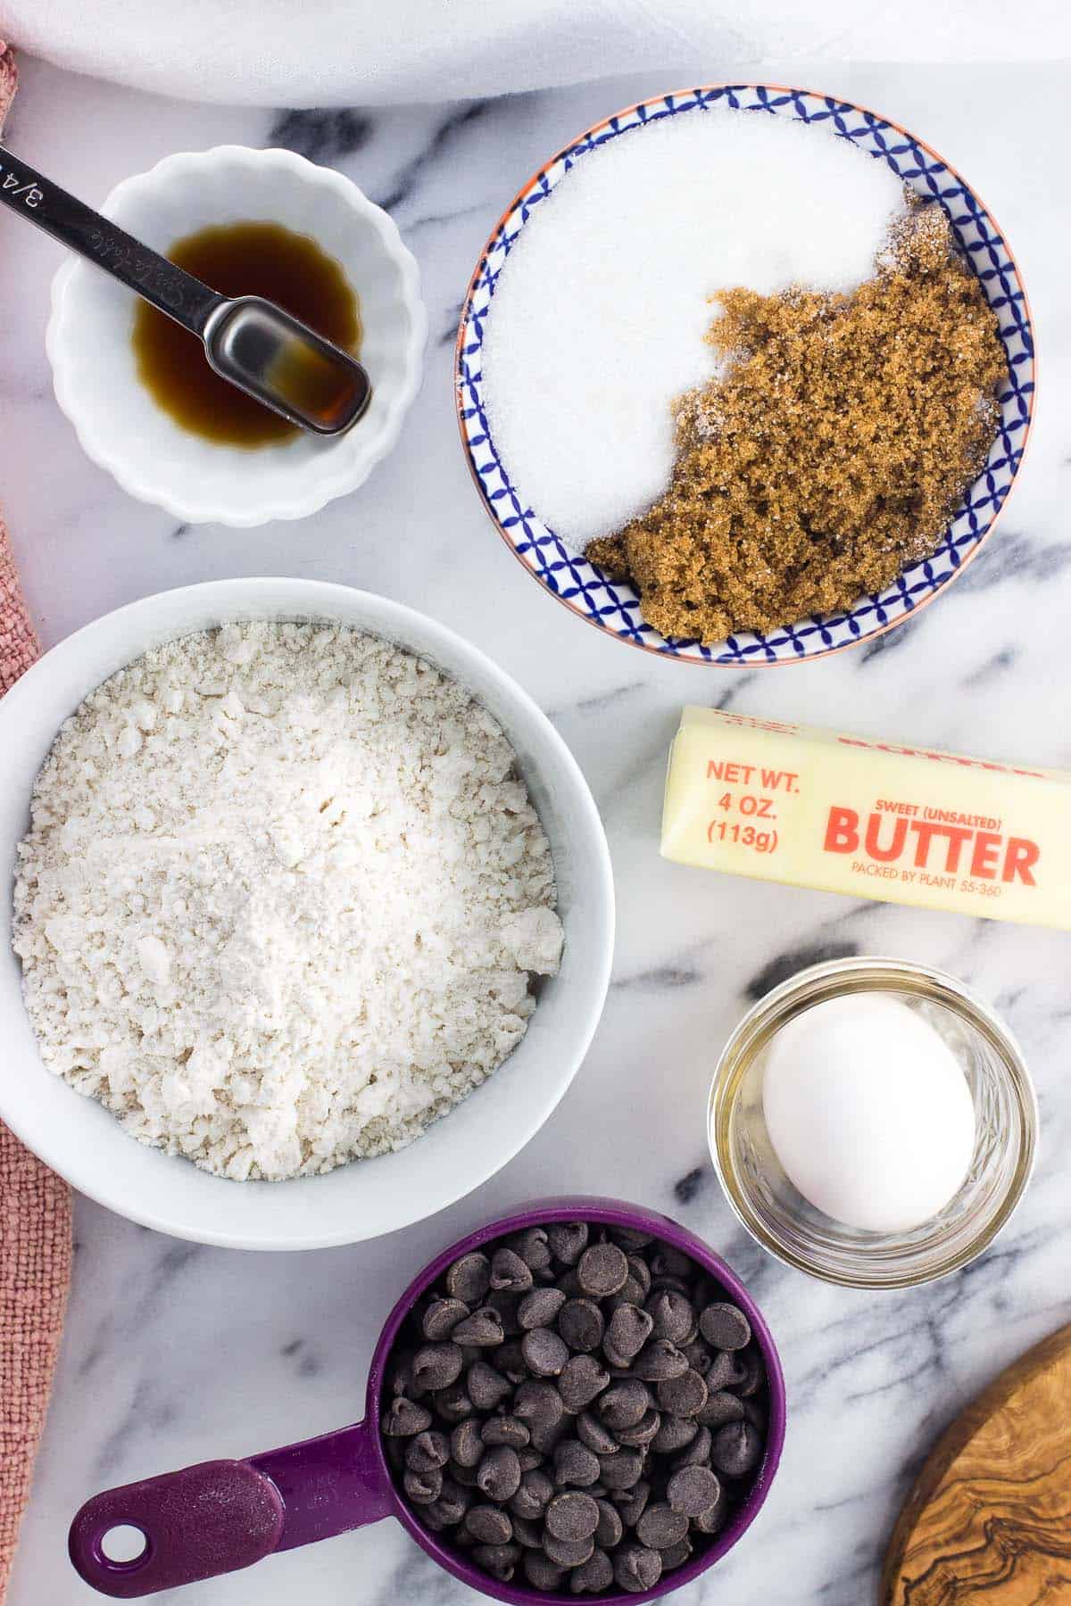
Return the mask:
M694 79L731 75L695 64ZM252 112L156 101L29 63L8 130L88 201L172 149L286 143L387 206L424 275L432 336L395 454L303 524L175 528L88 464L50 390L42 345L59 251L0 217L0 485L45 644L132 597L225 575L295 573L405 599L478 642L554 718L605 819L620 901L613 984L591 1055L544 1131L442 1216L352 1249L255 1256L198 1248L79 1201L71 1315L8 1606L98 1600L71 1572L71 1513L92 1490L241 1455L361 1413L393 1298L432 1251L548 1192L629 1196L676 1214L737 1267L780 1343L785 1458L739 1548L681 1606L859 1606L933 1436L1028 1344L1071 1317L1071 1010L1066 935L727 880L657 854L666 747L686 699L1071 768L1071 133L1066 64L1002 69L785 63L774 82L880 108L981 191L1021 262L1042 397L1026 467L971 570L870 649L779 671L655 662L551 607L495 538L451 403L458 304L488 226L523 177L650 79L478 104ZM877 1298L811 1283L734 1225L703 1135L708 1076L747 1004L829 954L890 952L959 973L1020 1036L1042 1155L1018 1216L968 1272ZM475 1601L390 1522L159 1596L185 1606Z

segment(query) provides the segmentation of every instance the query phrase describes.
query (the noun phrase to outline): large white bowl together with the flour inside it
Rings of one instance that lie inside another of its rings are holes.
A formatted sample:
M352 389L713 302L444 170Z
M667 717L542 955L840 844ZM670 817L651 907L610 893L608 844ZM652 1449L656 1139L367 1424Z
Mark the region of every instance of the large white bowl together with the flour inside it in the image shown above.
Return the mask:
M434 1214L546 1121L613 944L599 816L442 625L169 591L0 703L0 1116L100 1203L246 1248Z

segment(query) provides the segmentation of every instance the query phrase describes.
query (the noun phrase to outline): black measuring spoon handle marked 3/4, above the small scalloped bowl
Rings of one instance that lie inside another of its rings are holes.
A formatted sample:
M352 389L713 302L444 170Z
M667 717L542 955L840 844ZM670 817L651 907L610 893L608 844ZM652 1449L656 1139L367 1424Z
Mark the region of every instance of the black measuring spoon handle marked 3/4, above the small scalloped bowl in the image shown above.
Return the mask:
M59 185L34 172L3 145L0 145L0 202L31 223L37 223L61 246L77 251L87 262L111 273L127 289L136 291L191 334L204 337L209 315L226 299L193 273L149 251L111 218L101 217Z

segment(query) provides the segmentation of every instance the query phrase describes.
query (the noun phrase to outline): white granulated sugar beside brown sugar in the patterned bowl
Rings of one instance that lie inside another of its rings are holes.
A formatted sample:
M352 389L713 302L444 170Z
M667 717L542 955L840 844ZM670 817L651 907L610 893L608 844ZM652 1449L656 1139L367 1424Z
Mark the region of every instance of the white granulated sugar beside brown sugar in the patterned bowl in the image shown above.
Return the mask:
M719 289L854 289L901 180L822 127L731 109L629 130L533 210L485 328L483 400L525 506L573 549L666 488L671 403L715 371Z

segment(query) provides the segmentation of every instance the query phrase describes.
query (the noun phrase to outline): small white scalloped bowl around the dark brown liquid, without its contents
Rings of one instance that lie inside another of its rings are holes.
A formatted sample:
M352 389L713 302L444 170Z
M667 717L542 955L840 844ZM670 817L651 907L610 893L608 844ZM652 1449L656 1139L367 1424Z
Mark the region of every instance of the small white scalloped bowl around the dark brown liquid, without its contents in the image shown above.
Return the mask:
M382 207L292 151L218 145L125 178L101 210L162 252L212 223L270 220L312 234L360 297L360 357L374 393L360 422L334 440L302 432L255 450L202 440L180 429L136 376L135 296L71 257L53 281L47 347L56 400L85 453L132 496L183 524L302 519L356 490L398 438L427 339L416 262Z

